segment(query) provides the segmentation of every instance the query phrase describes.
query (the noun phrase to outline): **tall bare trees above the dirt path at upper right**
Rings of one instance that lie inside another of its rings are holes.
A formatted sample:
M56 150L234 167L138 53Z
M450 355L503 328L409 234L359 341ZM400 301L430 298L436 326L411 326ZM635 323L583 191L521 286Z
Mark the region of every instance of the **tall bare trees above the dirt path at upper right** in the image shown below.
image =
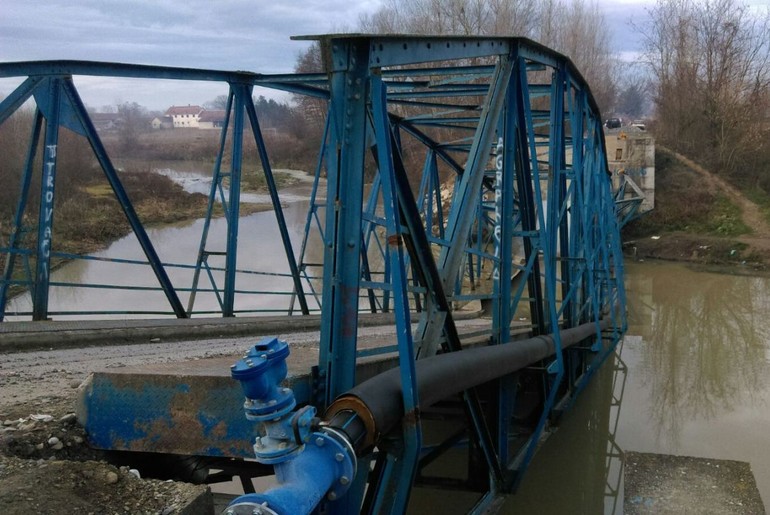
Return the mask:
M715 171L758 173L752 165L767 125L770 13L735 0L660 0L649 14L640 31L658 137Z

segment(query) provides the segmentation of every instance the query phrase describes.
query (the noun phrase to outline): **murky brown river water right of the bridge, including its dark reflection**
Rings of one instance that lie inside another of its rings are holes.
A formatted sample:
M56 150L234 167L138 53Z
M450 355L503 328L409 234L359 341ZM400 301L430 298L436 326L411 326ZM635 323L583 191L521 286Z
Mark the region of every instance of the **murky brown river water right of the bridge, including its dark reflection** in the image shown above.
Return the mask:
M623 513L621 451L746 461L770 502L770 278L635 262L625 276L620 359L503 513Z

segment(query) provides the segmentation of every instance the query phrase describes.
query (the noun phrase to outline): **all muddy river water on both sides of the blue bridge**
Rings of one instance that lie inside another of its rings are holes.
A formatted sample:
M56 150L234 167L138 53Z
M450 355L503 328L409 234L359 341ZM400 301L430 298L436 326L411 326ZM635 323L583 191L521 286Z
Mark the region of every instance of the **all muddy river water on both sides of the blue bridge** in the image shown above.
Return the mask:
M307 201L288 203L285 209L297 247L306 210ZM197 220L150 230L162 260L184 262L194 256L201 224ZM212 238L223 235L223 220L214 220ZM319 245L311 247L320 254ZM258 256L260 269L282 266L285 258L272 212L242 219L239 252L241 262ZM133 237L127 237L100 256L139 258L140 249ZM172 281L189 282L189 271L179 273L184 277L175 272ZM137 277L153 284L146 268L116 276L100 262L71 263L53 280L136 284ZM267 287L291 288L286 278L271 280L275 283ZM766 277L627 262L629 329L620 356L603 367L563 418L503 513L622 513L623 451L747 461L763 500L769 502L769 292ZM54 288L51 307L118 309L126 295L145 308L166 309L161 294L65 288ZM209 297L201 302L216 302ZM23 309L25 301L15 299L16 308ZM261 302L269 307L276 301ZM433 511L464 513L474 497L443 491L426 499Z

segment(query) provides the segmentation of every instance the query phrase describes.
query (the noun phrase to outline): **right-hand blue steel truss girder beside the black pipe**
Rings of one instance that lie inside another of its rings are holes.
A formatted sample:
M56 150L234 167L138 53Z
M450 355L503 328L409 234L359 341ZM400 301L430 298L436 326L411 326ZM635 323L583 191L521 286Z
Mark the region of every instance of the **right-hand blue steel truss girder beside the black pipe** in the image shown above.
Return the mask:
M515 345L511 328L520 303L529 305L531 334L556 338L559 350L540 367L543 405L526 443L511 445L512 406L522 394L511 378L500 380L492 398L486 393L482 399L475 390L463 395L469 448L486 464L476 473L490 478L473 510L481 512L515 488L549 424L625 330L618 309L624 305L622 257L601 117L571 63L530 41L346 36L321 42L331 66L326 211L334 212L326 218L322 304L334 309L323 311L323 391L317 401L328 404L355 384L360 256L373 249L389 264L382 288L394 300L402 374L404 418L393 436L398 444L369 457L379 475L364 507L377 513L406 508L425 459L420 415L427 407L417 395L414 358L462 352L452 303L473 297L468 285L478 272L494 278L485 299L493 306L487 343ZM426 148L417 200L405 166L409 136ZM367 149L375 156L376 178L365 202ZM446 200L435 178L437 156L456 174ZM490 169L493 160L497 169ZM367 237L379 238L377 246L360 234L361 213L373 212L375 198L380 230L370 224ZM493 251L486 232L496 236ZM367 241L362 252L359 246ZM521 264L515 246L523 250ZM411 304L422 307L413 332L414 310L407 307L415 291L424 293ZM604 317L612 323L602 331ZM596 324L595 341L562 351L559 328L584 323ZM495 399L500 409L490 416L482 404Z

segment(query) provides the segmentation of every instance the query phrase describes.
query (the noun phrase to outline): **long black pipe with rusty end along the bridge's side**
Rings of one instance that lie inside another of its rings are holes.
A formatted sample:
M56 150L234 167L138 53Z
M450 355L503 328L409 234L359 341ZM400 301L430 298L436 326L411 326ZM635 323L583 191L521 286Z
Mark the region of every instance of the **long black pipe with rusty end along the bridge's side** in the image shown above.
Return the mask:
M562 348L573 346L610 326L610 317L559 333ZM420 407L487 383L556 353L553 335L504 345L438 354L415 363ZM404 416L399 367L383 372L338 397L326 410L326 424L344 431L356 451L376 444Z

